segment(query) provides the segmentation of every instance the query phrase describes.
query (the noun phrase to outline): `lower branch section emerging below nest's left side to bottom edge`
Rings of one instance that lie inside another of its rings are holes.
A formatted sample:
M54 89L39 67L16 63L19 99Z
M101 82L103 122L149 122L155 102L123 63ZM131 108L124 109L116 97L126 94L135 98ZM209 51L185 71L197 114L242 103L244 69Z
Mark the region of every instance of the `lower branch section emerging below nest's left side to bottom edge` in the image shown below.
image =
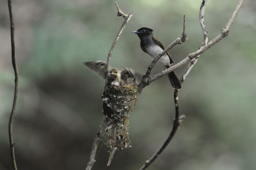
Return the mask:
M104 120L102 122L101 126L99 127L99 130L97 132L97 136L94 138L93 146L91 148L90 159L89 159L89 162L87 163L87 167L86 167L85 170L91 170L91 168L93 167L94 162L96 162L96 160L94 158L95 158L95 154L96 154L96 151L97 151L97 147L99 145L99 141L101 140L102 136L106 132L107 127L108 127L108 122L106 120Z

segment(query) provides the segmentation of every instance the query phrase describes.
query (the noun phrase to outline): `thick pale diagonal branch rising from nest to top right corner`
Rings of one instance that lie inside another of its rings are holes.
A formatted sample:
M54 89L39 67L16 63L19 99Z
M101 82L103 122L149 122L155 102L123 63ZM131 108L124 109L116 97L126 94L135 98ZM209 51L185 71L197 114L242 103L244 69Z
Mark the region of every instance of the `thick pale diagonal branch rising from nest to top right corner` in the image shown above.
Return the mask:
M156 79L161 78L162 76L166 75L167 73L170 73L172 71L174 71L177 68L182 67L184 64L188 63L189 61L191 61L193 58L195 58L196 56L202 54L203 52L205 52L206 50L208 50L209 48L211 48L213 45L215 45L217 42L221 41L223 38L227 37L229 35L229 28L231 26L231 24L234 22L234 19L236 18L242 4L244 3L245 0L240 0L236 10L234 11L233 15L231 16L229 22L227 23L226 27L224 29L221 30L221 34L219 34L217 37L215 37L214 39L212 39L212 41L210 41L208 44L204 45L201 49L197 50L194 53L190 53L188 55L188 57L186 57L184 60L180 61L180 63L177 63L175 65L173 65L172 67L161 71L160 73L155 74L154 76L150 77L150 79L148 81L153 82Z

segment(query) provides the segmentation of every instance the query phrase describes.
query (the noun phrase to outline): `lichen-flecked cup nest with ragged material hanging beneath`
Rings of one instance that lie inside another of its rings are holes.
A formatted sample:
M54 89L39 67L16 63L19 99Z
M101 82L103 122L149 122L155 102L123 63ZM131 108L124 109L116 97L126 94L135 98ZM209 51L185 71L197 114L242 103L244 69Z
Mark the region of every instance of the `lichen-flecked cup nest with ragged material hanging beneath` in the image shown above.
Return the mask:
M136 85L132 86L107 86L106 94L103 93L103 111L108 121L105 144L110 147L131 147L128 137L129 113L137 101Z

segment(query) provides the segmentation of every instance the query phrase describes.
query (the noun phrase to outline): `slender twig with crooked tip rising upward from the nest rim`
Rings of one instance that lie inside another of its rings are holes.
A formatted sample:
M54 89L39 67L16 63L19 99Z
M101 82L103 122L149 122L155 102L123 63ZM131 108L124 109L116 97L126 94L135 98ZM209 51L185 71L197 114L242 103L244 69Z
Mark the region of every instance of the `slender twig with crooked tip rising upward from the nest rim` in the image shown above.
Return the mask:
M107 75L109 75L109 67L110 67L110 59L111 59L111 55L112 55L112 52L113 52L113 49L114 49L114 46L116 45L116 42L118 40L118 38L120 37L121 33L123 32L123 29L125 27L125 25L127 24L127 22L131 19L132 17L132 14L130 13L129 15L127 14L124 14L120 8L118 7L117 3L116 3L116 7L117 7L117 10L118 10L118 14L117 16L123 16L124 17L124 22L120 28L120 30L118 31L117 35L116 35L116 38L114 39L114 42L109 50L109 54L108 54L108 60L107 60ZM106 87L107 87L107 84L108 84L108 76L106 76L106 83L105 83L105 91L106 91Z

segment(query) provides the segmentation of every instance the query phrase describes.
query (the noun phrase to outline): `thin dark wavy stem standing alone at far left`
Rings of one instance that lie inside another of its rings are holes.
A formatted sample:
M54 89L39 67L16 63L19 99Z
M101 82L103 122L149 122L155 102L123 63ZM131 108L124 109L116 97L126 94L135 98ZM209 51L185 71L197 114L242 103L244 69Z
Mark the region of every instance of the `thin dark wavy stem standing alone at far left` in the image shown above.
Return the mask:
M14 170L17 170L16 162L15 162L15 154L14 154L14 142L12 138L12 122L14 119L14 113L16 109L17 96L18 96L18 68L15 61L15 45L14 45L14 20L12 15L12 2L8 0L9 14L10 14L10 22L11 22L11 46L12 46L12 66L14 68L15 74L15 90L14 90L14 101L12 105L12 112L9 120L9 140L11 147L11 156L12 156L12 166Z

